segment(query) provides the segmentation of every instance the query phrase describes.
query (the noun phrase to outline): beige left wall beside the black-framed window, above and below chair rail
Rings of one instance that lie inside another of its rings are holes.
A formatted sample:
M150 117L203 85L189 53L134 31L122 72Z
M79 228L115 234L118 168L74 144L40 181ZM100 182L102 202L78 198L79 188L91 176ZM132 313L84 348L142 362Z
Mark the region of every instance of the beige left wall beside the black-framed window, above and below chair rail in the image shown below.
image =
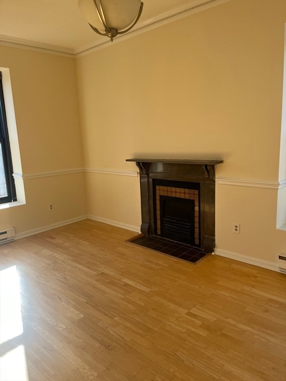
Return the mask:
M0 58L10 70L23 175L81 168L74 59L10 47ZM1 210L1 230L21 234L86 214L83 173L27 179L24 188L25 205Z

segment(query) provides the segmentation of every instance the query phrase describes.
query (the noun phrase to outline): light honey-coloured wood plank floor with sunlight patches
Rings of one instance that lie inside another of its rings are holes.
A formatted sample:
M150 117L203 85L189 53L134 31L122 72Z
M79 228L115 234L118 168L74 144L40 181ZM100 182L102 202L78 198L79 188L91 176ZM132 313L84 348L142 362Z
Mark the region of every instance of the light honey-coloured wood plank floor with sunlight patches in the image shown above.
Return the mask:
M284 274L135 235L84 220L1 245L1 380L286 380Z

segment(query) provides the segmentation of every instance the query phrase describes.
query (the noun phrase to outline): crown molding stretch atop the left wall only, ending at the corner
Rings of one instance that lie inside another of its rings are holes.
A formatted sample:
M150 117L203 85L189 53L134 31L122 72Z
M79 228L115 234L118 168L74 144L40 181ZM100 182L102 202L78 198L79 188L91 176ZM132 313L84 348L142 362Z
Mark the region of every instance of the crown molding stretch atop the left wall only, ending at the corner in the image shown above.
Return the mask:
M0 45L10 46L12 48L34 50L42 53L56 54L58 56L74 57L73 49L43 44L36 41L22 40L21 38L13 38L3 35L0 35Z

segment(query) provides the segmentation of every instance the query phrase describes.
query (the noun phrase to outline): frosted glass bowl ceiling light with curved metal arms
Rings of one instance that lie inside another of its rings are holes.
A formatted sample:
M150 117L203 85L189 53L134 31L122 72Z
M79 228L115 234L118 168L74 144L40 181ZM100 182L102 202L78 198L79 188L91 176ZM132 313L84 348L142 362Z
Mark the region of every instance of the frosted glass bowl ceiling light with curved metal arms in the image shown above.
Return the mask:
M78 0L77 3L91 29L109 37L111 42L134 27L143 9L141 0Z

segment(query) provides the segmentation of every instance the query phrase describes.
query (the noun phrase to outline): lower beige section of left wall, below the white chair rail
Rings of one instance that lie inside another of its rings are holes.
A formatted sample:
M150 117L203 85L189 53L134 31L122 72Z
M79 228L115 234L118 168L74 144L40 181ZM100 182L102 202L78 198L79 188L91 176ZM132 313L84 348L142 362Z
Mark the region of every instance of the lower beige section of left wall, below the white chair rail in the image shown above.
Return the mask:
M26 204L0 211L1 230L14 227L21 237L78 219L86 214L83 185L83 173L26 180ZM50 202L53 211L48 208Z

